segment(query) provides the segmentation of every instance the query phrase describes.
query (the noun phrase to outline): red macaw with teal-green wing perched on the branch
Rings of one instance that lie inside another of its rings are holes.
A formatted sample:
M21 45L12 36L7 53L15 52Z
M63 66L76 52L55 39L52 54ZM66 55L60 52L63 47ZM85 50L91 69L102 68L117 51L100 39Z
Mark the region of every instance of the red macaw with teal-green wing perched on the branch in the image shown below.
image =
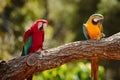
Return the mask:
M25 31L23 37L24 46L22 56L41 51L43 49L44 30L47 24L47 20L37 20L27 31Z

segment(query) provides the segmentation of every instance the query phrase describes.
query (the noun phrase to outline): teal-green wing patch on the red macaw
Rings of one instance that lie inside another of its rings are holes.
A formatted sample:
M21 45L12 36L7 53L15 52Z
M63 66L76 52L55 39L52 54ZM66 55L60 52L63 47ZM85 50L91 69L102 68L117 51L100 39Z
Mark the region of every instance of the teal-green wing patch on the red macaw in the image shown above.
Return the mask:
M24 55L29 54L29 50L31 46L32 46L32 36L29 36L24 45Z

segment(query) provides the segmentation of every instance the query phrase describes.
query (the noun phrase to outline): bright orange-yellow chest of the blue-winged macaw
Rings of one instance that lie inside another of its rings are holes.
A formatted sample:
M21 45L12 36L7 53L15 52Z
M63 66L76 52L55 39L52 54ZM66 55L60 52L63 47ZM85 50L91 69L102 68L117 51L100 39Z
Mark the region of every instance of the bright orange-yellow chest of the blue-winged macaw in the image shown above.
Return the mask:
M98 26L88 26L87 33L88 33L90 39L99 39L101 31Z

